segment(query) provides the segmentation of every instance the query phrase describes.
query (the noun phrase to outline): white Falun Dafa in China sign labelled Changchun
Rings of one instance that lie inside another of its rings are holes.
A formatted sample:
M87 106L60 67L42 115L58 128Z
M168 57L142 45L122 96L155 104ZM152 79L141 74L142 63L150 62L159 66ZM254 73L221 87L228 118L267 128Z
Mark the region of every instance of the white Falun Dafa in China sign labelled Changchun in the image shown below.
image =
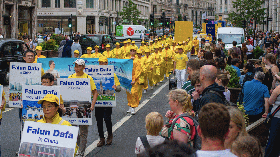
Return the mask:
M75 125L92 125L90 78L57 78L57 86L68 116L62 118Z

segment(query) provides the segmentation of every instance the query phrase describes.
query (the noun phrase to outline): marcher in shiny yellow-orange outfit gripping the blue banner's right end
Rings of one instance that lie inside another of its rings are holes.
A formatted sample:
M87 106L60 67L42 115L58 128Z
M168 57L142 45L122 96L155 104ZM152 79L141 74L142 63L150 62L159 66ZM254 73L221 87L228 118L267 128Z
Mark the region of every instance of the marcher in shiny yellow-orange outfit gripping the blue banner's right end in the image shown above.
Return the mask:
M130 57L126 57L124 59L132 59L133 60L133 67L132 67L132 82L130 83L132 85L131 87L131 93L126 92L127 101L129 109L127 113L131 113L132 115L135 115L135 107L138 107L139 105L139 97L138 97L138 81L139 76L141 74L141 61L136 57L136 48L132 47L130 49Z

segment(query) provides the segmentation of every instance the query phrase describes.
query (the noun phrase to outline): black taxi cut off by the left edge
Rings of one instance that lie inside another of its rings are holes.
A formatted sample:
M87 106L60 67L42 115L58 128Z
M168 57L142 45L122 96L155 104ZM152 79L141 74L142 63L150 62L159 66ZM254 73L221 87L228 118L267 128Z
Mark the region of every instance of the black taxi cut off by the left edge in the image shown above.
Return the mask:
M9 84L10 62L25 62L23 53L26 50L29 50L29 47L22 40L0 39L0 78L3 84Z

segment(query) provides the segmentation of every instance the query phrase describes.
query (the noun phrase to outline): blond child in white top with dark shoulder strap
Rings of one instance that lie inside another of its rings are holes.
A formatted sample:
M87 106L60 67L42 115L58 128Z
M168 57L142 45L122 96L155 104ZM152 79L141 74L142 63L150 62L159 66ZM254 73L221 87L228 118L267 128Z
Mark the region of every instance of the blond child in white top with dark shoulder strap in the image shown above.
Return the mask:
M147 129L146 140L148 141L150 148L153 148L158 144L162 144L165 139L162 136L159 136L159 132L163 127L162 115L160 115L160 113L158 112L151 112L146 116L145 121L146 121L146 129ZM143 142L140 139L140 137L138 137L135 146L135 154L139 156L141 153L145 151L146 148L143 145Z

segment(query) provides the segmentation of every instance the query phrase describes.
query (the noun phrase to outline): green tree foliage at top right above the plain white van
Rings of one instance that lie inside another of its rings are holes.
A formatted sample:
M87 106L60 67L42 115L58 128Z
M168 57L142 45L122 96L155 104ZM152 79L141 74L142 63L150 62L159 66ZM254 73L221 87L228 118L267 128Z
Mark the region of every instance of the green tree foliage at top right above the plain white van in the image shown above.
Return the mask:
M233 7L237 8L237 12L240 14L236 14L235 20L245 20L247 24L250 23L251 18L255 19L257 17L257 22L259 24L263 24L265 19L265 10L266 8L261 8L264 1L262 0L236 0L236 2L232 2ZM240 17L237 18L237 17ZM248 25L247 25L248 26Z

